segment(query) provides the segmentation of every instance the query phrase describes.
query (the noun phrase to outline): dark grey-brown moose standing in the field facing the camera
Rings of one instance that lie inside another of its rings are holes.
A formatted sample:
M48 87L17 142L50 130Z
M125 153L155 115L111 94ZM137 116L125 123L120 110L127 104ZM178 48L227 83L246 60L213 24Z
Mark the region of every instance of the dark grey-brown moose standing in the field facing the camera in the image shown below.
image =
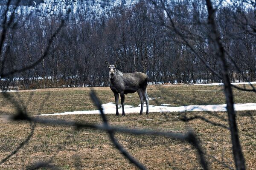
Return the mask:
M116 61L114 65L110 65L108 61L105 61L106 65L109 68L109 81L110 88L114 93L116 100L116 116L118 113L118 99L119 94L121 97L122 104L122 116L125 116L124 102L125 94L135 93L136 91L139 94L141 101L140 115L143 113L144 102L147 105L146 114L148 114L148 94L147 94L147 82L148 76L141 72L135 73L123 73L116 69L116 65L119 61Z

